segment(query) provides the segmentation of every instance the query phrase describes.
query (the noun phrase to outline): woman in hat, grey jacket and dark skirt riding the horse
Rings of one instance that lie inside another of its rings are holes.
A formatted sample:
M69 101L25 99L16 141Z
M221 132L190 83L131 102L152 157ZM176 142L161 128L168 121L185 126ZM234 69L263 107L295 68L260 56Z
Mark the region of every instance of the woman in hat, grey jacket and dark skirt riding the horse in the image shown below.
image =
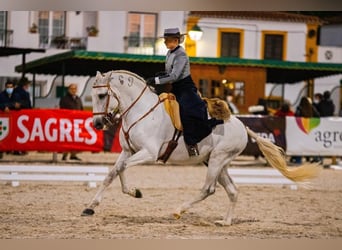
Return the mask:
M180 116L183 125L184 141L189 156L199 155L197 143L208 136L222 120L208 120L206 103L198 94L190 75L189 58L180 44L184 35L178 28L164 30L164 43L168 49L165 62L165 73L146 80L149 85L172 83L171 92L180 104Z

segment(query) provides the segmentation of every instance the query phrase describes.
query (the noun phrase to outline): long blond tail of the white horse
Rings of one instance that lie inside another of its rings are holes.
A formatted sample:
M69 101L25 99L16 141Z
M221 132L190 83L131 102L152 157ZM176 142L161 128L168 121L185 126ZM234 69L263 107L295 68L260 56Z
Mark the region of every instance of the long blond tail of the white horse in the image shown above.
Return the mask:
M246 127L248 135L253 138L265 156L268 163L279 170L286 178L294 182L305 182L317 177L322 168L318 164L303 164L298 167L288 168L286 154L281 147L278 147L270 140L262 138Z

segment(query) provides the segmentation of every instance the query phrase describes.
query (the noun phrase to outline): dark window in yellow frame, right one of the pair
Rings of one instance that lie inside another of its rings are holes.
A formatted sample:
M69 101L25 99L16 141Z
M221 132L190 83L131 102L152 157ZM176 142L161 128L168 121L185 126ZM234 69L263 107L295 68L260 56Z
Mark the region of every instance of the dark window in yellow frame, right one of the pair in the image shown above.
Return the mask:
M263 59L284 60L285 59L285 34L264 33Z

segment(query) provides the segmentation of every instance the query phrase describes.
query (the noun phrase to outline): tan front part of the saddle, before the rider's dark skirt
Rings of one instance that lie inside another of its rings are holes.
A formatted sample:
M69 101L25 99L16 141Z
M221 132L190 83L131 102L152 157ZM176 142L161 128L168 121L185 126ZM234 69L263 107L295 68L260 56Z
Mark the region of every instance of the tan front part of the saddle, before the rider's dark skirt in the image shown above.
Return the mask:
M165 111L170 116L173 126L176 129L183 131L179 113L179 104L176 100L176 96L172 93L161 93L159 95L159 100L164 102Z

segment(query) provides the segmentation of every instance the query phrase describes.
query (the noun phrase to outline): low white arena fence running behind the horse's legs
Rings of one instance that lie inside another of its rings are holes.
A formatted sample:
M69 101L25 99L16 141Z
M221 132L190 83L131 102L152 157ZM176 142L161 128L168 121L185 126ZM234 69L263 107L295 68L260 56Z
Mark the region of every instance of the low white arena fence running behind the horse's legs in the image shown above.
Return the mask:
M74 167L74 166L25 166L0 165L0 181L19 186L20 181L73 181L85 182L89 187L96 187L109 171L108 167ZM288 185L297 189L297 185L286 179L276 169L264 168L231 168L229 174L237 184L245 185Z

